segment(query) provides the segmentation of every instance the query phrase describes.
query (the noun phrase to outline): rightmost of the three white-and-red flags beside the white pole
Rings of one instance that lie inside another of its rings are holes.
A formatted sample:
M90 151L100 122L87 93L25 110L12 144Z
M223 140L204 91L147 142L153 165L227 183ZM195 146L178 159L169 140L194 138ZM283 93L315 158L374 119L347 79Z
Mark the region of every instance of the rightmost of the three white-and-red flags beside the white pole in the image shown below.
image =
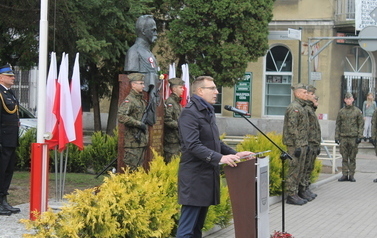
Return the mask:
M72 141L82 150L84 148L83 129L82 129L82 107L81 107L81 86L80 86L80 64L79 53L76 54L71 80L71 100L74 118L76 140Z

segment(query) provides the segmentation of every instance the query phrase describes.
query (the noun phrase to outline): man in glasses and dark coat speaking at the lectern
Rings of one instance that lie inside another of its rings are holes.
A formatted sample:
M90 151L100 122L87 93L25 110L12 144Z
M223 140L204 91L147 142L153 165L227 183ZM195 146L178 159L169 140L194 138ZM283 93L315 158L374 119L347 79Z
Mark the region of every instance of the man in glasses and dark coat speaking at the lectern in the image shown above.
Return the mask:
M182 156L178 172L178 202L182 205L177 238L202 237L208 207L220 203L220 165L237 166L240 157L220 141L213 104L217 91L212 77L192 83L193 97L178 120Z

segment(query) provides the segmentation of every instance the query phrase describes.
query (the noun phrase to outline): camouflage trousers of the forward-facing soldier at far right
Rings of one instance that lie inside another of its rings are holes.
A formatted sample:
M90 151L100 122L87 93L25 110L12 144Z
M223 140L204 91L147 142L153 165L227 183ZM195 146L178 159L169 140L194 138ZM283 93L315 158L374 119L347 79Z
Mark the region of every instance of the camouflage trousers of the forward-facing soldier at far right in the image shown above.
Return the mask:
M342 155L342 174L354 175L356 169L356 155L359 149L357 137L341 137L339 152Z

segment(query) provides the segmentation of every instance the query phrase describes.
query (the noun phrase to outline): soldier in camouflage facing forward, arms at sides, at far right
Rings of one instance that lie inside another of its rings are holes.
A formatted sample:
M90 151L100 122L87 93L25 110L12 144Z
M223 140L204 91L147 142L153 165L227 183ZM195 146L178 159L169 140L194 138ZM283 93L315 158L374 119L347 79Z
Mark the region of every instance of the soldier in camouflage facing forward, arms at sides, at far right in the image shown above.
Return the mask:
M354 99L351 93L346 93L344 102L346 106L339 110L336 118L335 142L340 143L339 150L342 155L342 174L339 182L356 182L354 174L356 169L356 154L358 144L363 138L364 119L359 108L353 106Z

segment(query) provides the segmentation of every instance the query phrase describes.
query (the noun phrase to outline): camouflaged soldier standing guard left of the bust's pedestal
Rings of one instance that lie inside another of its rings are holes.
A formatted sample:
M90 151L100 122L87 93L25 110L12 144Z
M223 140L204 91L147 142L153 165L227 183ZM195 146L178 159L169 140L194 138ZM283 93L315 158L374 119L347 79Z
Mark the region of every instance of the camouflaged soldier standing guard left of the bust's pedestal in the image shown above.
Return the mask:
M123 161L132 171L143 164L148 144L148 129L141 121L147 102L143 99L144 74L132 73L128 78L131 91L119 107L118 121L125 125Z

